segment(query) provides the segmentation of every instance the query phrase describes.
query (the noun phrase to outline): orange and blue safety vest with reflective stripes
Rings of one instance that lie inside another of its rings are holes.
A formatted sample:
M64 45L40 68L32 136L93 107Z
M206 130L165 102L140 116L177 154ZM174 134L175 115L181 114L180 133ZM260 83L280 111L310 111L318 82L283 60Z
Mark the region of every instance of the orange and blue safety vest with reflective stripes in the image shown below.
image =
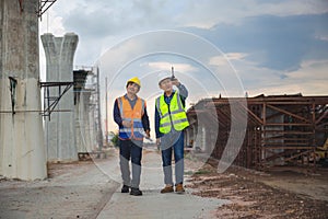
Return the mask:
M120 139L142 140L144 130L141 117L144 113L144 101L138 97L133 108L125 96L120 96L117 101L121 119L132 123L130 128L120 127L118 137Z

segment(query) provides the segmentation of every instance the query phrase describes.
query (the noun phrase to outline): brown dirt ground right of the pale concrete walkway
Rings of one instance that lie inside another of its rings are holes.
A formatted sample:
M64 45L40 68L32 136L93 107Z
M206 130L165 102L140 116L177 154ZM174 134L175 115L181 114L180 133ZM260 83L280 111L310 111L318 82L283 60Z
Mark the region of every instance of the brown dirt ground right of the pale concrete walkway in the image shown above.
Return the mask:
M232 166L216 173L215 161L191 175L187 185L202 197L229 199L218 218L328 218L328 169L280 168L257 172Z

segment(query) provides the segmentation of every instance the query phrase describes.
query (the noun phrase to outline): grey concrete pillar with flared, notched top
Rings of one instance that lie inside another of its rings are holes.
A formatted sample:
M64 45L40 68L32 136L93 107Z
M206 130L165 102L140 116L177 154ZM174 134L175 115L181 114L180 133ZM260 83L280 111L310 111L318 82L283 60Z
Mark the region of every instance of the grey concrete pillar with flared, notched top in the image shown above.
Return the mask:
M73 58L78 46L78 35L68 33L63 37L52 34L42 35L46 60L47 82L73 81ZM58 95L58 88L52 88L50 95ZM59 101L56 110L70 112L52 113L46 120L46 148L48 161L75 161L74 95L71 88Z

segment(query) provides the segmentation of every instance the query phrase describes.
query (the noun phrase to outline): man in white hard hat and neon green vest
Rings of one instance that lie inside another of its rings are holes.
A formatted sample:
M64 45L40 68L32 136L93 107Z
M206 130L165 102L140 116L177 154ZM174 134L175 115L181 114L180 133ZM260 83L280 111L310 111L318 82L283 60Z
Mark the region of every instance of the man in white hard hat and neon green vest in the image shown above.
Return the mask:
M188 91L169 71L157 76L159 85L164 91L156 99L155 132L156 143L162 151L165 187L161 193L183 194L184 188L184 129L189 126L185 112ZM177 90L174 90L173 87ZM175 184L172 176L172 153L175 160ZM175 185L175 189L174 189Z

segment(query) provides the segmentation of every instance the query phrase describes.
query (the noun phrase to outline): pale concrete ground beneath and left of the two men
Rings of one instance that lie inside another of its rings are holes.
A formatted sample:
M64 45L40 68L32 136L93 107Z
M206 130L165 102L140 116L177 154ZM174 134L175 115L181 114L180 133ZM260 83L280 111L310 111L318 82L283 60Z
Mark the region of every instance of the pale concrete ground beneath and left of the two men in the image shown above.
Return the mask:
M161 194L160 153L144 151L142 164L143 196L138 197L120 193L117 150L93 162L55 164L46 181L0 178L0 218L215 218L214 210L227 203L188 188L184 195Z

